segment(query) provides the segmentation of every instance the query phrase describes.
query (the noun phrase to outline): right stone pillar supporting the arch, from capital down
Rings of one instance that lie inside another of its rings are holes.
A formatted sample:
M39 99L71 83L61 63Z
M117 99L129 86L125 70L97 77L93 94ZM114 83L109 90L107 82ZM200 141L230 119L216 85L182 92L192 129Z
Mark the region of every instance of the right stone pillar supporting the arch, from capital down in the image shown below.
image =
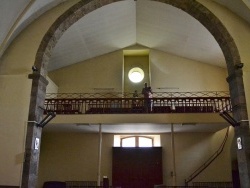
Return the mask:
M237 160L241 188L250 187L250 134L246 107L245 90L243 85L243 73L241 68L229 74L230 95L233 107L233 117L239 122L235 127L235 139L241 139L242 148L237 149ZM233 144L237 144L236 142Z

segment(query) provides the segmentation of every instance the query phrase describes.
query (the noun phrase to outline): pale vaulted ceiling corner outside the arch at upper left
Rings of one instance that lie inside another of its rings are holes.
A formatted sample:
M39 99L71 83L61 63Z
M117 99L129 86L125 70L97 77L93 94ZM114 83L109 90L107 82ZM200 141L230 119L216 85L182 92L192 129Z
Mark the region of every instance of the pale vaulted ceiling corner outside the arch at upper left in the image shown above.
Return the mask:
M0 57L23 29L64 1L67 0L0 0L0 17L4 18L0 20Z

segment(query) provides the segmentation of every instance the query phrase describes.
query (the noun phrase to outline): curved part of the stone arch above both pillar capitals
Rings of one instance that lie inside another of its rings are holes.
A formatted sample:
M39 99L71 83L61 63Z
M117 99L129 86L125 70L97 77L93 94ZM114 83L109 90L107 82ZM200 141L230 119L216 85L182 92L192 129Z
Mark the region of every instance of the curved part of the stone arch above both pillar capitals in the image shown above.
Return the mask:
M43 37L36 54L35 65L37 65L39 68L41 67L41 71L46 74L47 63L51 54L51 50L56 45L62 34L72 24L77 22L86 14L95 11L102 6L119 1L122 0L82 0L71 7L54 22L49 31ZM191 15L193 18L197 19L202 25L204 25L220 45L226 59L229 74L234 72L235 65L241 63L237 46L227 29L212 12L210 12L206 7L198 3L196 0L152 1L169 4L176 8L179 8Z

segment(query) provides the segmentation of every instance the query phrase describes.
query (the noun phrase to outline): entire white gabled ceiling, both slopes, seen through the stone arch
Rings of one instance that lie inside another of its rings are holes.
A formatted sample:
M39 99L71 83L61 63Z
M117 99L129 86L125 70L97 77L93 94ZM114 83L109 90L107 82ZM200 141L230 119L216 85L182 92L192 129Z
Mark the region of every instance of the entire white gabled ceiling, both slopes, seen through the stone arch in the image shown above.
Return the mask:
M104 6L71 26L54 48L49 70L134 44L226 65L213 36L193 17L159 2L130 0Z

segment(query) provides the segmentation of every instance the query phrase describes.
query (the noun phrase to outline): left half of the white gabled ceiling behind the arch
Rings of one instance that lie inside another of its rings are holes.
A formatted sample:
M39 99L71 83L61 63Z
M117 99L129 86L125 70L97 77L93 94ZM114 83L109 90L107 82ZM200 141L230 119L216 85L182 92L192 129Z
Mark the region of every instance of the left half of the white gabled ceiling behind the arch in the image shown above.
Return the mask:
M104 6L80 19L60 38L49 70L110 53L136 43L135 2Z

